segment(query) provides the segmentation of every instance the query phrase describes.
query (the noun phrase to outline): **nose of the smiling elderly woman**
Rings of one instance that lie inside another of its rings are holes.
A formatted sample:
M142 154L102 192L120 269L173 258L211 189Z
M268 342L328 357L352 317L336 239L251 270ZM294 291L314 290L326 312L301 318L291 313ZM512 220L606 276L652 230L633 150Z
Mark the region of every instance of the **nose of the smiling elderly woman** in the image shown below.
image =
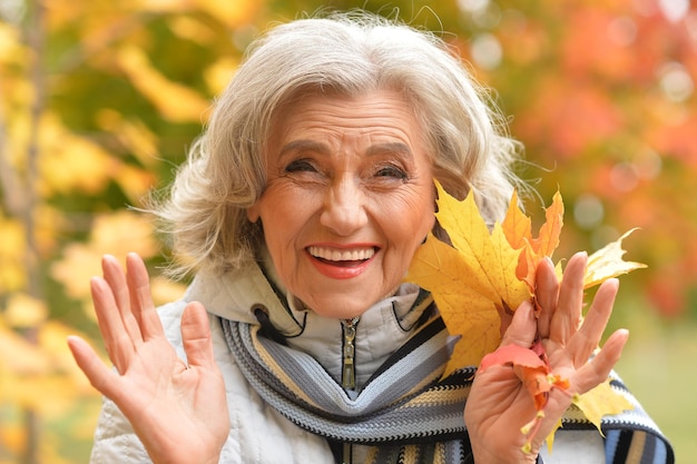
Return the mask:
M320 223L336 235L348 236L367 224L364 200L355 179L336 179L325 194Z

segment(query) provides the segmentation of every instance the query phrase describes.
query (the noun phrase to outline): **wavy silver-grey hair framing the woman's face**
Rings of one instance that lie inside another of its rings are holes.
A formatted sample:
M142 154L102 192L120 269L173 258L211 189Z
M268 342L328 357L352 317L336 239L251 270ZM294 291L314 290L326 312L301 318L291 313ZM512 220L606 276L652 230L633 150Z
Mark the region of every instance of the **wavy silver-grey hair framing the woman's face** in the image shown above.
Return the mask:
M155 213L174 237L176 272L239 269L263 241L246 209L265 186L271 121L303 92L399 90L424 130L435 178L488 223L504 215L519 144L485 89L433 33L365 12L276 26L248 49L207 130Z

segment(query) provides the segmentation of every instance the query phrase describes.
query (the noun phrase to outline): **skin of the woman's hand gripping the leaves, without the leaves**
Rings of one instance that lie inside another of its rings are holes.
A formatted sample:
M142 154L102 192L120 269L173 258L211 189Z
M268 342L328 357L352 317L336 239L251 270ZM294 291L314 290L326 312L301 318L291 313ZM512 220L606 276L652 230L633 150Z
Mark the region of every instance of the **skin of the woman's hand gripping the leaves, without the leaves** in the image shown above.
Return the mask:
M505 332L501 346L516 344L528 348L537 337L542 342L551 372L569 381L568 391L552 388L544 417L532 438L531 453L523 453L528 437L521 427L534 419L532 398L511 365L492 365L479 372L464 411L474 462L534 463L541 444L571 404L571 395L583 394L605 382L619 359L627 342L627 330L613 333L601 351L589 361L606 328L617 279L603 283L582 319L583 274L587 255L575 255L560 284L550 260L537 269L536 299L539 313L530 302L522 304ZM583 320L581 325L581 320Z

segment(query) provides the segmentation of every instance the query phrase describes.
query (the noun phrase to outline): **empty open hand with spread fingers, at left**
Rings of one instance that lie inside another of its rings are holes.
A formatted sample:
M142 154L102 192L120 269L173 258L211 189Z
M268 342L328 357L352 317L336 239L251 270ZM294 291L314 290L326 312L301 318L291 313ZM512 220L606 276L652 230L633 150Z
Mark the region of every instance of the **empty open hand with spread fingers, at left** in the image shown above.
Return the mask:
M72 355L92 386L130 421L155 463L217 463L229 417L206 310L190 303L181 316L187 365L165 336L143 260L129 254L126 267L127 275L106 256L104 278L91 280L99 329L116 372L81 338L69 338Z

